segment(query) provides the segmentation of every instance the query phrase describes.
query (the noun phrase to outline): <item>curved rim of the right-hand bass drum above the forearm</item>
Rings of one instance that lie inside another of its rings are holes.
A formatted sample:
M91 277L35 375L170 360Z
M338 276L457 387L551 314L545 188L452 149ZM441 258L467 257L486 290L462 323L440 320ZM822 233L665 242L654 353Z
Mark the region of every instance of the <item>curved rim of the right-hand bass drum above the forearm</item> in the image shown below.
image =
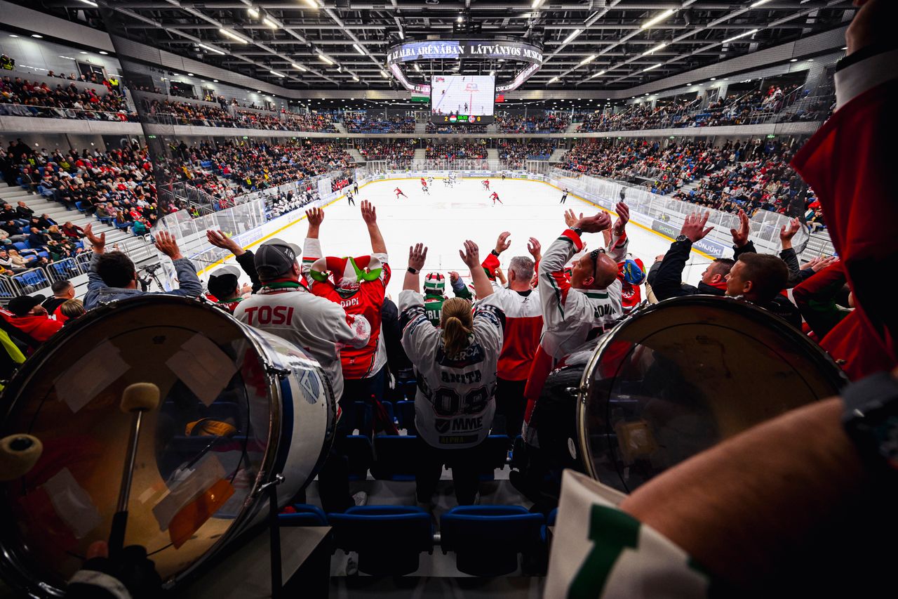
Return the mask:
M583 375L580 377L580 386L577 388L577 447L580 451L580 462L583 464L586 474L589 475L590 478L593 478L594 480L599 479L596 469L594 468L592 453L589 448L589 435L585 434L586 398L588 398L591 390L591 375L600 361L601 355L608 347L612 338L637 318L646 317L648 314L652 314L663 308L678 306L680 304L709 305L717 308L728 305L736 309L744 310L745 314L750 318L772 319L774 323L779 321L778 324L782 325L779 326L779 329L787 331L786 333L782 333L782 335L792 335L796 339L800 339L797 343L803 344L809 350L808 353L814 355L815 358L819 360L820 365L825 366L826 370L830 371L831 382L834 387L841 389L849 382L848 375L845 374L845 371L836 364L829 353L823 351L823 348L820 345L815 344L807 335L802 335L800 331L790 325L784 318L779 317L760 306L756 306L750 301L728 296L706 294L686 295L678 298L663 299L656 304L650 304L647 308L638 309L629 314L629 316L623 317L621 321L601 335L598 343L595 345L593 354L585 363Z

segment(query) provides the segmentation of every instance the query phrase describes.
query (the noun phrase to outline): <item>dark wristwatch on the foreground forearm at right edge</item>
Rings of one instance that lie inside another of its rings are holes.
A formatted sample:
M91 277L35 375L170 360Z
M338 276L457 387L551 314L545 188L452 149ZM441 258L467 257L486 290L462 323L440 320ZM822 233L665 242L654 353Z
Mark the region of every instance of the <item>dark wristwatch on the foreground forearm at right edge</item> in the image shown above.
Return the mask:
M842 389L842 426L864 464L898 483L898 380L877 372Z

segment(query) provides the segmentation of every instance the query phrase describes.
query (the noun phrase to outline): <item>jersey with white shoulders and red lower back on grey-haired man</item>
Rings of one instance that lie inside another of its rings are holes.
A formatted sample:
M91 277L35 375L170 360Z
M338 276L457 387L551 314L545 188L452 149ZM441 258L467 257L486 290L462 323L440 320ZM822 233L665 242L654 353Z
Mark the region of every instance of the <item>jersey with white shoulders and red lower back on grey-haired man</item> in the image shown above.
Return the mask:
M540 291L512 291L493 282L493 295L506 315L505 341L499 354L502 380L526 380L540 345L542 307Z

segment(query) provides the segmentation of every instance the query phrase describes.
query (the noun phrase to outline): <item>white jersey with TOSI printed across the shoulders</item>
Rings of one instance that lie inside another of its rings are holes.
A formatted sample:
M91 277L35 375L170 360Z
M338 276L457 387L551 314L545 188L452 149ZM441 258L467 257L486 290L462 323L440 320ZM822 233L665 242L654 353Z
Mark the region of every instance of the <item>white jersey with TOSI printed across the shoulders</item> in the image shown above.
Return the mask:
M340 350L365 347L371 336L371 325L365 317L347 314L339 305L316 298L298 283L262 287L242 300L233 316L303 348L321 364L338 399L343 395Z

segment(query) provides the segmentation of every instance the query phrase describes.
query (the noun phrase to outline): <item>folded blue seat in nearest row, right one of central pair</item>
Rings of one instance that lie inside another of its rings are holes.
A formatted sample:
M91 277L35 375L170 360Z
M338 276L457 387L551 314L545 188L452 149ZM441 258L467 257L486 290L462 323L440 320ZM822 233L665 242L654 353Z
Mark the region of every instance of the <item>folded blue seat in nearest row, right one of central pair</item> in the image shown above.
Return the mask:
M500 577L515 572L518 553L544 549L542 514L520 505L459 505L440 520L443 552L454 551L455 567L477 577Z

